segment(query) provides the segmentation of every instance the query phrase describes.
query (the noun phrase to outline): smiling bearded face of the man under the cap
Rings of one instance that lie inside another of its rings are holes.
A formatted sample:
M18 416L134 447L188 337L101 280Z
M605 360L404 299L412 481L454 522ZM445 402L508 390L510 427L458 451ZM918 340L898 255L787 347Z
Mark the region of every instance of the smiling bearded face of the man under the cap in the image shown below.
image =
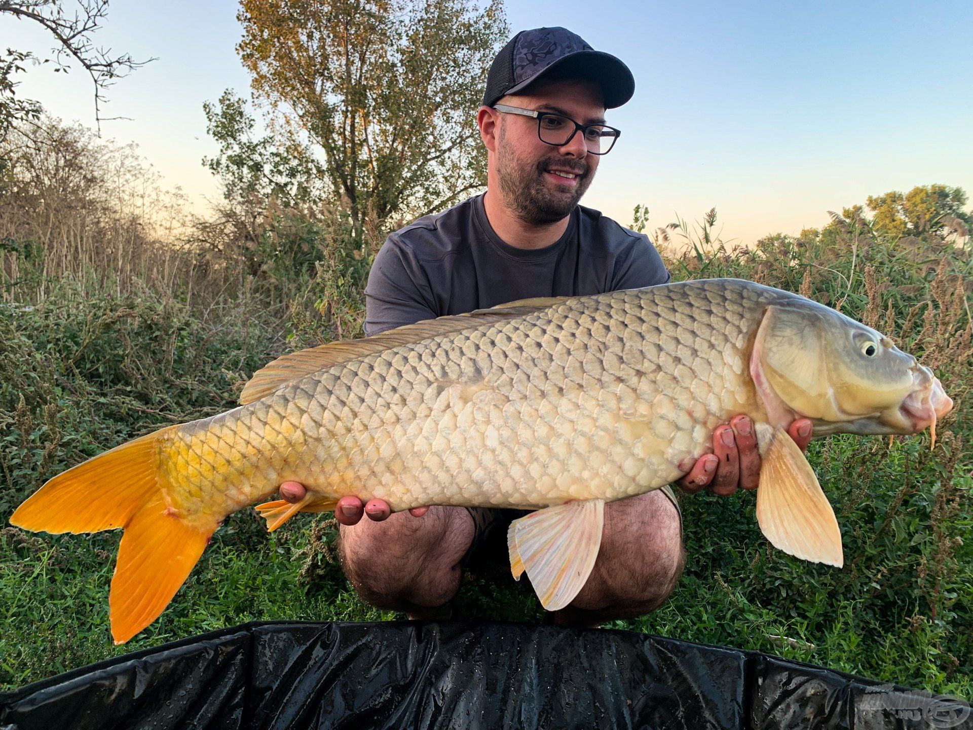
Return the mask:
M525 93L504 96L497 103L556 112L581 125L604 122L601 91L588 82L538 84ZM524 223L558 222L592 184L598 156L588 152L580 132L566 145L554 147L538 137L536 119L497 114L496 173L504 204Z

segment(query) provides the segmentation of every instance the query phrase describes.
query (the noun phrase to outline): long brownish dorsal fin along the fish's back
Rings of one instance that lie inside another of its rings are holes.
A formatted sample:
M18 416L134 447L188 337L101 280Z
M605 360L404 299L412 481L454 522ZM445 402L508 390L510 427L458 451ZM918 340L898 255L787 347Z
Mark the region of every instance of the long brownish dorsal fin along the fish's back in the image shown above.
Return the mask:
M567 297L524 299L499 305L488 310L475 310L467 314L452 314L436 319L424 319L386 330L362 340L341 340L318 347L298 350L281 355L253 374L240 393L240 404L246 405L266 398L284 383L300 380L311 373L349 362L359 357L375 354L384 349L417 343L450 332L480 327L481 325L516 319L535 311L546 310Z

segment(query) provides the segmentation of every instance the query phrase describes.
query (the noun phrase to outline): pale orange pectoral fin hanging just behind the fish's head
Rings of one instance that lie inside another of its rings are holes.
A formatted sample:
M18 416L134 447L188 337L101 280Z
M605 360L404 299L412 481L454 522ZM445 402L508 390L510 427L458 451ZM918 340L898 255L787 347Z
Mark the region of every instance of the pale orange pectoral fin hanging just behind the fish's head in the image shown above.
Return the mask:
M760 529L775 548L796 558L845 565L838 520L811 464L783 428L770 438L757 487Z

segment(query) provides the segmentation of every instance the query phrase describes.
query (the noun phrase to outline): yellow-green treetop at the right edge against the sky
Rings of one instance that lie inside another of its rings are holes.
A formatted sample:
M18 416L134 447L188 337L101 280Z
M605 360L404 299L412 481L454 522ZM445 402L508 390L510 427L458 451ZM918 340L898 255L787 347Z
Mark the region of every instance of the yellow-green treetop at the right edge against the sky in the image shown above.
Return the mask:
M966 193L948 185L917 185L903 195L897 191L869 196L868 209L875 213L872 225L887 237L947 237L973 228L973 215L963 212ZM958 225L957 225L958 224Z

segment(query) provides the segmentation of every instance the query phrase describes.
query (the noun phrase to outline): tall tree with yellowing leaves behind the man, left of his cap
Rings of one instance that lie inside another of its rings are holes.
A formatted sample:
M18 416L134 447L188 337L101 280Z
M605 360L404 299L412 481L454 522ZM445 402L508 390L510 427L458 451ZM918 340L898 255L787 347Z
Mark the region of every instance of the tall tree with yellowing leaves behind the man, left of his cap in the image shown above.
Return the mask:
M474 112L507 27L501 0L240 0L237 46L291 150L360 226L486 183Z

